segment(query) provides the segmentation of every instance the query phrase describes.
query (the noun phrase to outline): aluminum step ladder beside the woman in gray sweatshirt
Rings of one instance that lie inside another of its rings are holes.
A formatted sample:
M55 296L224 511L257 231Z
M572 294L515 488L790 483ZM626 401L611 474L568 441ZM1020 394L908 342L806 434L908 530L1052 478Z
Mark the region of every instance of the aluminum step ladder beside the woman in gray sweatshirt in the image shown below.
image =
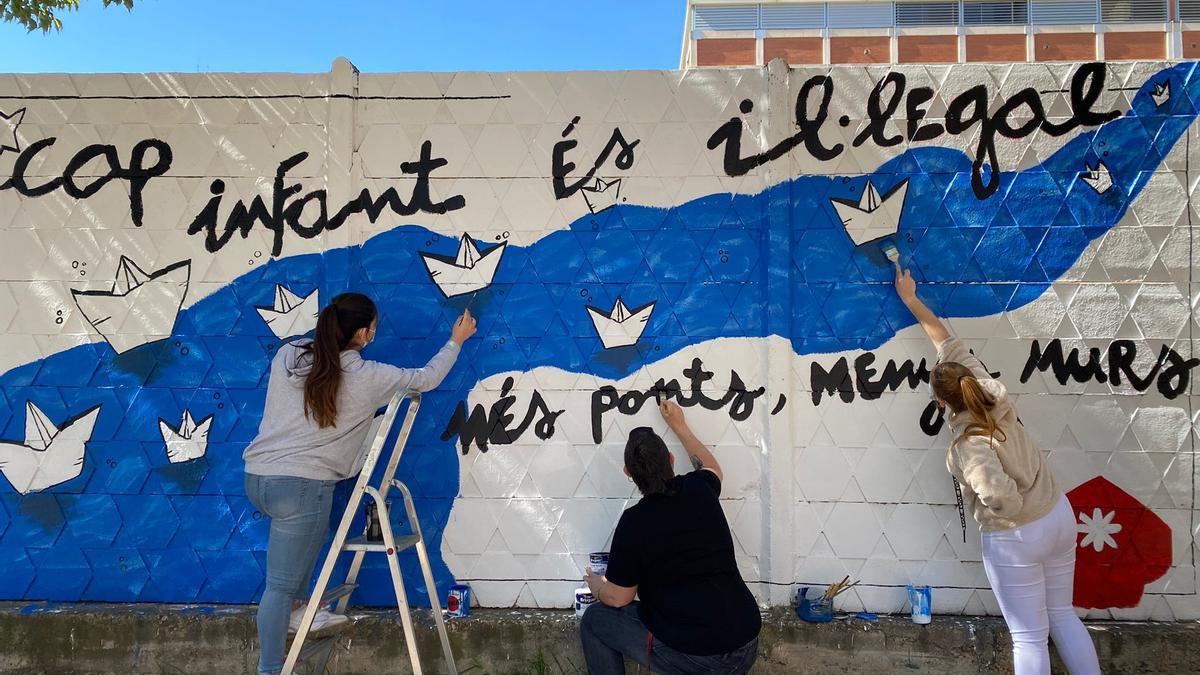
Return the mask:
M388 468L384 471L379 485L371 485L371 476L374 473L379 455L383 454L388 435L391 432L392 424L396 422L396 414L400 412L404 399L408 399L409 404L401 423L396 448L391 453L391 459L388 461ZM283 663L283 675L293 675L300 661L305 662L305 673L313 673L316 675L325 673L341 632L320 638L310 635L312 621L317 616L318 609L335 601L337 602L337 607L334 609L334 613L346 614L346 609L350 603L350 593L358 587L358 577L359 569L362 567L362 558L368 552L382 552L388 556L388 568L391 572L391 584L396 590L396 608L400 610L400 621L404 629L408 657L413 663L413 673L421 675L421 659L416 651L416 634L413 632L413 617L410 616L408 597L404 592L404 579L400 573L400 552L409 548L416 549L416 557L421 563L421 573L425 575L425 587L430 593L430 607L433 609L433 621L437 623L438 637L442 640L442 652L445 656L446 670L450 675L457 675L458 670L455 665L454 652L450 651L450 637L446 634L445 621L442 617L442 603L438 602L437 586L433 583L433 569L430 567L430 556L425 550L425 540L421 537L421 524L416 519L416 509L413 507L413 495L403 483L395 479L396 467L400 466L400 458L404 452L404 444L408 442L408 435L413 430L413 420L416 418L416 411L420 406L420 394L403 392L396 394L388 404L388 408L374 436L368 438L371 446L366 449L362 470L359 472L359 479L354 484L350 501L346 504L346 513L342 514L342 521L337 526L336 534L334 534L334 543L329 546L329 554L325 556L325 563L320 568L320 575L317 577L317 585L308 598L308 607L305 609L304 619L300 621L300 627L292 640L288 658ZM412 534L397 537L391 531L391 519L388 514L386 498L388 491L392 486L400 490L400 494L404 498L404 510L408 513L408 522L413 528ZM378 509L379 525L383 530L382 542L367 540L365 536L348 538L350 521L354 520L354 515L359 512L364 495L368 495ZM353 551L354 558L350 562L346 581L340 586L329 589L329 580L334 575L334 567L337 565L337 558L347 551ZM308 665L312 668L308 668Z

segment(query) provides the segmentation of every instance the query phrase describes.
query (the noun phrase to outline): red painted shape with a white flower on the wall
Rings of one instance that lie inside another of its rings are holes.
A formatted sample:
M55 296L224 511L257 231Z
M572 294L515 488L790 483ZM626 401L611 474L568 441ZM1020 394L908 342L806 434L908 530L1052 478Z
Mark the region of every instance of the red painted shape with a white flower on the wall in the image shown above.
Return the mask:
M1146 584L1171 567L1171 528L1103 476L1067 492L1067 498L1080 530L1075 607L1136 607Z

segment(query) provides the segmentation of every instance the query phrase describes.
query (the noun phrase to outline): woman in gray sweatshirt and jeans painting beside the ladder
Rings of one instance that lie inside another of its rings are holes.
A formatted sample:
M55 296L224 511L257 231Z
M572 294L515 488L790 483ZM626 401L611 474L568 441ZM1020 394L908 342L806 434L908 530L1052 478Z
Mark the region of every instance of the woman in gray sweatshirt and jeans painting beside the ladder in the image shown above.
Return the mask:
M397 392L437 388L475 333L475 319L464 311L425 368L396 368L359 354L374 339L377 321L370 298L343 293L320 311L313 340L283 345L271 360L263 422L242 454L246 496L271 519L266 589L258 605L263 674L283 668L287 634L300 623L329 533L334 486L358 473L374 412ZM344 622L322 610L312 629Z

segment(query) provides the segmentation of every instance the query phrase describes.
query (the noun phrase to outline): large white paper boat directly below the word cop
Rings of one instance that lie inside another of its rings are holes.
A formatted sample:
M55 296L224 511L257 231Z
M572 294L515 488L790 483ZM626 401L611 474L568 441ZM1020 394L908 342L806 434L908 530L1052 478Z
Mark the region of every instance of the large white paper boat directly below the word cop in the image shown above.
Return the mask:
M121 256L112 291L71 291L88 323L122 354L148 342L164 340L187 295L192 261L181 261L146 274Z

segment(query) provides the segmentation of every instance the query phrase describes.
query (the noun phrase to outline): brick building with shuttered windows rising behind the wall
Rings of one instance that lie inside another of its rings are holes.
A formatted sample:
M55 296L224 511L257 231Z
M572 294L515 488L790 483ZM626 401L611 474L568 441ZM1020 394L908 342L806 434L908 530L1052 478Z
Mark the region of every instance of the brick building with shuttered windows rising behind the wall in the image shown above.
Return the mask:
M690 0L680 67L1200 58L1200 0Z

